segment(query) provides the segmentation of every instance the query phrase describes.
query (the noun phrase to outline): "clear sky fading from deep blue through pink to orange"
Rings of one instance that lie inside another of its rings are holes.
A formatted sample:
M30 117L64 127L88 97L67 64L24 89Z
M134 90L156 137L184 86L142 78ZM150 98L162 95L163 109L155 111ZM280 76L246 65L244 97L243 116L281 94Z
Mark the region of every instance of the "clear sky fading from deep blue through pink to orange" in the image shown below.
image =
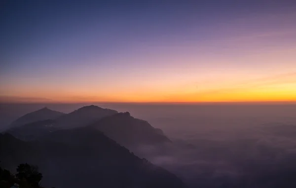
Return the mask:
M296 101L294 0L4 0L0 101Z

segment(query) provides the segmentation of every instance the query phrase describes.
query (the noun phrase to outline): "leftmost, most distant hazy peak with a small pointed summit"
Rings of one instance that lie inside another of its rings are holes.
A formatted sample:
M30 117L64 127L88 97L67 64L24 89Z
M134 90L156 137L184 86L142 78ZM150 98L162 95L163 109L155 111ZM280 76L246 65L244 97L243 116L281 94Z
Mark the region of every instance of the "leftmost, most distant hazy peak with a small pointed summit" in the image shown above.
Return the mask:
M37 110L32 113L27 113L15 121L13 121L9 127L16 127L20 125L25 125L28 123L33 123L35 121L41 121L41 120L46 120L46 119L56 119L57 117L64 115L65 113L57 112L50 110L48 108L42 108L40 110Z

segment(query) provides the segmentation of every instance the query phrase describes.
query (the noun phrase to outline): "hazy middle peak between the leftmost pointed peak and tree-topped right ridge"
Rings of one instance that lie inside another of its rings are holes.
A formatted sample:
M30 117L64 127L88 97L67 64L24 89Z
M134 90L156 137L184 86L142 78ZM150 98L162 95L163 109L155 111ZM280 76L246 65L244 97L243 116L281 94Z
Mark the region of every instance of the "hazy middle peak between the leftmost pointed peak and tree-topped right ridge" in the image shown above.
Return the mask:
M115 110L103 109L98 106L85 106L72 113L65 114L56 119L59 127L73 128L86 126L93 121L118 113Z

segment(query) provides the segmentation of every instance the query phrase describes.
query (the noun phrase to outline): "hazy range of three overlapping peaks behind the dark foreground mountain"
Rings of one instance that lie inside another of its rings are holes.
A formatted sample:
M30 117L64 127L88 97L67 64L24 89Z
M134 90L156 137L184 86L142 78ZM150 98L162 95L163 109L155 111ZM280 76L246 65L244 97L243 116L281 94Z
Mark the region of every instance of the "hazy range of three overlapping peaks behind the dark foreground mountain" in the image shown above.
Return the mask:
M38 117L39 114L42 116ZM59 115L56 117L52 114ZM56 118L48 118L50 115ZM20 126L19 122L24 122L23 119L31 123ZM35 119L38 121L33 122ZM18 126L13 126L16 122ZM94 105L82 107L68 114L43 108L18 118L11 126L7 132L23 140L34 140L57 129L91 126L125 147L171 142L161 129L152 127L145 120L134 118L128 112L118 113Z

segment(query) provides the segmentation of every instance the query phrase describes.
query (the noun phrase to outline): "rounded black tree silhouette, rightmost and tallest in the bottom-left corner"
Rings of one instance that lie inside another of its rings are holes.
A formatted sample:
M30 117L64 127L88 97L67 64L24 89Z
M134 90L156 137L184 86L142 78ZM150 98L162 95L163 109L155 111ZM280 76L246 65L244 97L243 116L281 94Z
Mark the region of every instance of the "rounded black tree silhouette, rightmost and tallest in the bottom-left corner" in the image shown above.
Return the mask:
M20 179L26 179L32 186L38 186L42 179L42 174L38 172L37 166L29 165L28 163L20 164L16 171L18 172L15 176Z

